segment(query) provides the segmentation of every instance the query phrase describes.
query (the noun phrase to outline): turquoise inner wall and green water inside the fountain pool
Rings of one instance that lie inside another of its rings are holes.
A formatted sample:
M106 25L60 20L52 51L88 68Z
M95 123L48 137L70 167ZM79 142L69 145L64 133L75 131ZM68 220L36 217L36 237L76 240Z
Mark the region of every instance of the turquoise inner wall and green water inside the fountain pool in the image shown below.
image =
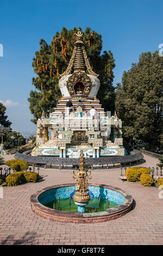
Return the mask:
M68 187L58 187L52 188L41 193L38 197L38 200L41 204L52 208L55 203L55 210L58 210L58 197L60 198L60 208L62 211L71 211L77 212L77 205L74 204L73 195L75 192L75 186ZM117 205L123 204L125 201L124 196L115 190L109 188L98 187L98 186L89 186L91 200L88 205L86 205L86 212L99 212L105 211L109 208L115 207ZM70 205L70 196L71 196L71 205ZM100 196L100 206L98 197Z

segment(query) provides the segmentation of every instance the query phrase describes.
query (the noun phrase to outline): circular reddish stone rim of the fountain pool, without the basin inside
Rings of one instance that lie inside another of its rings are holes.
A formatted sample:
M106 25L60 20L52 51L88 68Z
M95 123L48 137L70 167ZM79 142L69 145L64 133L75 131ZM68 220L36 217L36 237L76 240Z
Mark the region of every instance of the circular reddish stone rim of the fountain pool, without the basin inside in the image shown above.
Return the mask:
M87 214L82 212L68 212L68 211L54 210L41 204L38 200L38 197L43 192L52 190L54 188L70 187L70 186L75 186L75 184L69 183L69 184L45 187L42 190L39 190L36 193L32 194L32 196L30 196L30 203L32 206L32 210L37 215L44 217L47 220L52 220L57 222L69 222L69 223L97 223L97 222L110 221L127 214L127 212L131 210L131 207L133 204L133 197L131 197L130 194L121 190L121 188L112 187L104 184L89 184L89 186L103 187L103 188L108 188L110 190L117 191L124 196L125 198L124 203L117 205L113 208L106 209L105 211L93 212L93 213Z

